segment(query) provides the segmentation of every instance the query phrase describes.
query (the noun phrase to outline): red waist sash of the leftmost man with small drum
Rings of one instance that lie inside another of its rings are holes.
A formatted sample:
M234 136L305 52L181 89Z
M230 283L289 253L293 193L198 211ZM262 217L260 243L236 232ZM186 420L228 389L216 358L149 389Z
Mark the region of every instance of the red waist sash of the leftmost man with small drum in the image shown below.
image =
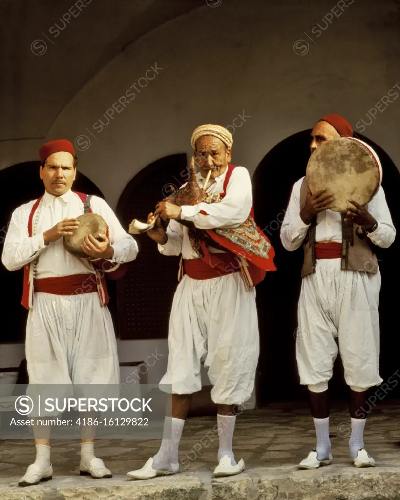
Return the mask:
M97 291L95 274L72 274L52 278L35 279L33 290L53 295L80 295Z

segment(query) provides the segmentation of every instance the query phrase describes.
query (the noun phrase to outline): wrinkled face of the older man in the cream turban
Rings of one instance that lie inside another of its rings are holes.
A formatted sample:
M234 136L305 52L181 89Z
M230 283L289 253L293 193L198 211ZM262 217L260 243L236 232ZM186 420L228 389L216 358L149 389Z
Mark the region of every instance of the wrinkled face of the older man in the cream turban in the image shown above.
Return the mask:
M210 179L221 175L231 158L230 147L213 135L203 135L196 142L194 151L196 163L198 164L202 177L206 177L208 170L211 170Z

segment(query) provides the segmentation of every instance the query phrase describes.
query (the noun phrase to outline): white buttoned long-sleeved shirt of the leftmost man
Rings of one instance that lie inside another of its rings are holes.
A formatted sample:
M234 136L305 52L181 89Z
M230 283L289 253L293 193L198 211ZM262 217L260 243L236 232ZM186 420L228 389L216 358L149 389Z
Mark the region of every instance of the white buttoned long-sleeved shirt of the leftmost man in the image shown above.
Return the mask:
M18 206L11 215L1 256L5 267L13 271L38 257L35 272L35 277L38 279L93 272L90 261L76 258L66 251L62 237L47 245L43 239L43 232L51 229L56 223L83 213L83 204L79 196L71 190L61 196L52 196L45 192L36 209L36 212L39 209L40 212L35 234L29 237L28 218L34 202L35 200L32 200ZM92 196L90 207L92 212L101 215L109 226L109 239L114 248L112 261L122 263L134 260L138 251L137 243L123 230L108 204L103 199Z

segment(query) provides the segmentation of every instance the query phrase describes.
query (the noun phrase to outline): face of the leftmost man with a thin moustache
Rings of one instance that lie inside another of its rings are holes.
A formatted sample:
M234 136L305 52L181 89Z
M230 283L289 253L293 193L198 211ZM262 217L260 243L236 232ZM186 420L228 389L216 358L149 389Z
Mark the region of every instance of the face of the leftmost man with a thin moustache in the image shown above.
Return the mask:
M46 191L53 196L61 196L72 187L75 180L76 168L73 166L72 154L66 151L50 154L44 165L40 165L39 174Z

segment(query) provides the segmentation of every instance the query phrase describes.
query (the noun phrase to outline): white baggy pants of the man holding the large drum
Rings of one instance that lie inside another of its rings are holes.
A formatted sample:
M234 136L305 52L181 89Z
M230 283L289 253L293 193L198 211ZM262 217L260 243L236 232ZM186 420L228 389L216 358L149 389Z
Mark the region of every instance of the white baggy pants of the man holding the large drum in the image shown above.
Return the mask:
M300 383L332 376L340 351L347 385L379 385L380 272L341 270L340 259L317 259L302 279L298 302L296 359ZM335 338L338 338L337 348Z

